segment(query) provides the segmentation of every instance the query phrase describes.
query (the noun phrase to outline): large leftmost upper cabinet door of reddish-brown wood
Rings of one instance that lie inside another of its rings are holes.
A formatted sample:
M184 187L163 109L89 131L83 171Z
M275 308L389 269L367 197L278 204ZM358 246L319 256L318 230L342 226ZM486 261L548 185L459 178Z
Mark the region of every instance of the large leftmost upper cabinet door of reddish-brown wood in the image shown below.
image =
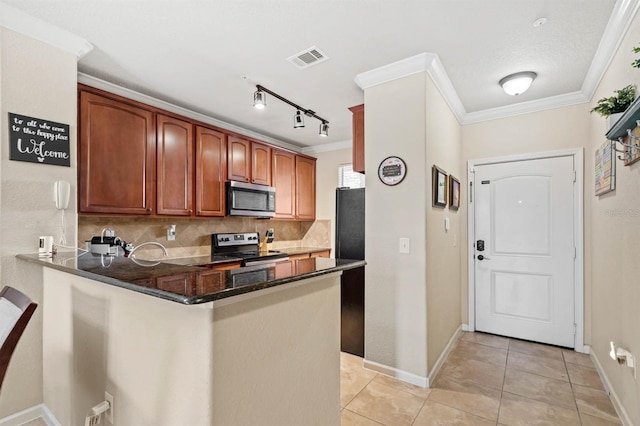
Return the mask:
M79 211L151 214L156 138L151 111L80 92Z

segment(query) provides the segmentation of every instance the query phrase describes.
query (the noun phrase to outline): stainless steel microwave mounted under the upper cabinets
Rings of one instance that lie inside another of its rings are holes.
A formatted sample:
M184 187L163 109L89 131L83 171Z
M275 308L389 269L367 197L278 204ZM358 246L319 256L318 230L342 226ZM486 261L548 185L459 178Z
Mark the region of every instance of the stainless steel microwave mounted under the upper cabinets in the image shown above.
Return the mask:
M276 214L276 189L245 182L227 182L227 215L273 217Z

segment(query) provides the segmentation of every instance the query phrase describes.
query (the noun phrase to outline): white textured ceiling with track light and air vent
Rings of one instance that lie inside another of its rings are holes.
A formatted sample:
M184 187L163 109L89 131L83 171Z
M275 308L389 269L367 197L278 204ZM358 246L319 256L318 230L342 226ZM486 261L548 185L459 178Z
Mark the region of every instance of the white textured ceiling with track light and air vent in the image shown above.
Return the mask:
M364 101L354 77L435 53L466 112L579 91L615 0L211 0L4 3L94 45L79 71L300 146L351 138L348 107ZM535 28L533 22L548 23ZM330 59L300 70L286 60L311 46ZM498 80L531 70L531 89L507 96ZM331 122L268 98L255 84Z

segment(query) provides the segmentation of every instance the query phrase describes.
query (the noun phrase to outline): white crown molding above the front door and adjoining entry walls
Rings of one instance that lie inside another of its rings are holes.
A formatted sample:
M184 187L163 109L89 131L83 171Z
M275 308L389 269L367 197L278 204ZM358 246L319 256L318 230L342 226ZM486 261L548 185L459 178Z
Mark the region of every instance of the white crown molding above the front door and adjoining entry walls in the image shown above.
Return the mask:
M578 92L467 112L440 62L440 58L435 53L429 52L360 73L354 80L361 89L365 90L412 74L426 72L433 79L434 84L461 125L586 103L593 98L638 10L640 10L640 0L618 0L616 2L596 54Z

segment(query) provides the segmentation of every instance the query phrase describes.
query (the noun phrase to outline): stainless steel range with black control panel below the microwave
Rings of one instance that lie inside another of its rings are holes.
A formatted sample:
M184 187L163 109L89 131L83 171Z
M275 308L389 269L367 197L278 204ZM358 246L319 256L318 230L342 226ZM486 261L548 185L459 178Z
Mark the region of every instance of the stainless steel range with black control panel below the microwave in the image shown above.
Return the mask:
M239 257L242 259L242 266L282 262L289 259L287 253L276 250L260 251L260 237L257 232L211 234L211 254Z

